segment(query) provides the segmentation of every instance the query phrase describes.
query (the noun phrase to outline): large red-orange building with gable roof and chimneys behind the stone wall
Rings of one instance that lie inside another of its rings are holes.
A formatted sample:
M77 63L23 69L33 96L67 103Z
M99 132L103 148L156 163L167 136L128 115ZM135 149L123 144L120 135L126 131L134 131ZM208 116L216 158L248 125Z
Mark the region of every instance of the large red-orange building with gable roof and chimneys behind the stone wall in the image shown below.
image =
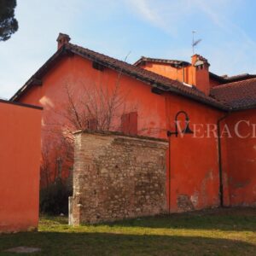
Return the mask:
M69 131L107 127L169 140L171 212L256 205L256 76L220 77L201 55L131 65L69 40L60 34L55 54L11 98L44 107L42 184L71 172ZM194 134L167 137L179 111Z

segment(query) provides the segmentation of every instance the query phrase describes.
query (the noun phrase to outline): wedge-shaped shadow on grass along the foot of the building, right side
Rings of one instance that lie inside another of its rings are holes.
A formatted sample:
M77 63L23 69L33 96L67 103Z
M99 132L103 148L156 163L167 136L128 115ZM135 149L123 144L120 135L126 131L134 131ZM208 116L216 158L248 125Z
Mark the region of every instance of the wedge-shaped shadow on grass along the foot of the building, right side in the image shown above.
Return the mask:
M256 208L223 208L172 213L107 223L109 226L162 229L255 231ZM256 253L255 253L256 255Z

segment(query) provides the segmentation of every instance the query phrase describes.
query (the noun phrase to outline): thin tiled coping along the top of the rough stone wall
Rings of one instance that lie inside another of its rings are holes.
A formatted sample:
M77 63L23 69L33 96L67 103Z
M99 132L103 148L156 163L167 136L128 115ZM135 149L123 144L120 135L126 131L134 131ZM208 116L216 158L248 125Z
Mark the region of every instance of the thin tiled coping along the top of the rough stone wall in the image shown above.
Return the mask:
M73 135L77 136L81 133L87 133L87 134L95 134L95 135L102 135L102 136L115 136L115 137L128 137L128 138L135 138L135 139L143 139L148 141L154 141L159 143L168 143L168 140L163 138L157 138L157 137L148 137L148 136L141 136L141 135L129 135L125 134L120 131L93 131L93 130L79 130L74 131Z

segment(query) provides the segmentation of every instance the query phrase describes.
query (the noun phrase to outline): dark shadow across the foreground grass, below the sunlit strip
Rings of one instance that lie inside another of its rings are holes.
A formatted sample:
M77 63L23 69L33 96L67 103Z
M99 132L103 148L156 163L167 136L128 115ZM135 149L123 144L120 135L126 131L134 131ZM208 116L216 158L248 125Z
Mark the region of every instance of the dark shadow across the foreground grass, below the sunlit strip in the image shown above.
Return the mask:
M200 236L149 236L109 233L33 232L0 236L0 255L11 247L39 247L22 255L255 255L244 241Z

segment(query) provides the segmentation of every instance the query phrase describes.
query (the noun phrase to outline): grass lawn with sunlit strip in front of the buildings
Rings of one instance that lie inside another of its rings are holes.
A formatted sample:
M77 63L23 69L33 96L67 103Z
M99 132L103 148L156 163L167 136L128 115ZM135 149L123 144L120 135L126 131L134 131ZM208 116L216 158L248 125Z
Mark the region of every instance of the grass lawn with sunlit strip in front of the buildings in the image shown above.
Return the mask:
M69 227L65 217L42 217L38 232L0 235L11 247L40 247L21 255L256 255L256 209L203 212Z

